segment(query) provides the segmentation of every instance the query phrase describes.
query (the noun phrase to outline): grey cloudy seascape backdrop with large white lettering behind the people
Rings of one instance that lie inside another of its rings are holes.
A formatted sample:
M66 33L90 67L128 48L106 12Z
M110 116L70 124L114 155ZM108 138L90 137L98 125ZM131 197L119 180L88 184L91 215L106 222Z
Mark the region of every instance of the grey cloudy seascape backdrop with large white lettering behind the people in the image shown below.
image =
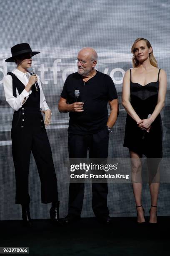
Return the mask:
M57 110L62 86L68 74L76 71L77 52L93 47L99 56L97 69L112 77L121 102L122 77L132 68L130 49L138 37L147 38L158 66L168 75L168 91L163 119L163 154L170 157L170 1L169 0L6 0L0 1L0 220L21 218L20 205L15 205L15 170L10 128L13 110L5 102L2 79L14 64L6 63L11 46L28 42L33 51L35 72L52 110L52 123L47 133L52 147L61 201L61 218L67 215L68 184L65 182L68 114ZM123 148L125 110L110 136L109 156L129 157ZM155 138L156 139L156 138ZM45 149L42 149L45 150ZM50 204L40 202L40 179L35 161L30 161L30 196L32 218L49 218ZM91 186L86 185L82 217L93 217ZM161 184L158 215L170 215L170 185ZM109 184L110 216L135 216L131 184ZM143 186L143 206L150 208L148 184Z

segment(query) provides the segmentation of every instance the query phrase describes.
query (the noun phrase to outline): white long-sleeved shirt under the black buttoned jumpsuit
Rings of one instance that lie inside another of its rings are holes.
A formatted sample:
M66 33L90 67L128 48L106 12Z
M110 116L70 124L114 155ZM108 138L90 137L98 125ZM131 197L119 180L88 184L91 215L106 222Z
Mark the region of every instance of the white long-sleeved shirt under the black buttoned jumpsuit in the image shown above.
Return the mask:
M19 69L14 69L12 71L13 74L15 74L16 77L26 86L28 84L28 81L30 79L30 73L23 73ZM38 77L38 76L37 76ZM38 77L38 85L40 87L40 108L42 110L47 110L49 109L47 102L45 100L44 93L42 91L41 87L41 82L40 82L40 77ZM15 111L19 110L22 105L26 102L32 91L27 92L25 89L21 94L19 95L18 90L16 88L16 93L17 97L13 96L13 79L10 75L6 75L3 78L3 86L4 86L4 91L5 91L5 98L8 104L13 108ZM25 99L25 100L24 100ZM24 102L24 103L23 103Z

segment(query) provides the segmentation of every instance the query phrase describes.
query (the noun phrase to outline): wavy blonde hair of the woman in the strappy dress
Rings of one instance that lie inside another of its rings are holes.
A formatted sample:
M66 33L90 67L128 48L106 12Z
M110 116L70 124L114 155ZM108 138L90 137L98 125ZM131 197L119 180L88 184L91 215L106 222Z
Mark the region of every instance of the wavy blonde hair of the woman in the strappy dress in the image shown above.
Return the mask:
M147 39L145 39L145 38L139 37L139 38L137 38L135 40L135 42L133 43L133 46L131 48L131 53L133 54L133 58L132 58L133 67L137 67L139 65L139 61L135 57L135 45L136 45L137 42L139 42L141 40L146 42L146 45L148 46L148 48L152 47L150 42ZM154 67L158 67L157 61L156 61L156 59L155 59L155 57L153 55L153 50L149 54L149 59L150 59L150 64L151 65L153 65Z

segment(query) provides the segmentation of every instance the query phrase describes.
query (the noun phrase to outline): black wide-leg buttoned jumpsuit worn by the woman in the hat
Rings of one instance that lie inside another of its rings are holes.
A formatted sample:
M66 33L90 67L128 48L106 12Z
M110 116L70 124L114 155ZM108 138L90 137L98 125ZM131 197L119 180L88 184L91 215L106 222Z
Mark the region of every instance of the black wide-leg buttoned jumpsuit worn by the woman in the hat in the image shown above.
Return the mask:
M24 84L9 72L13 78L13 95L19 94ZM58 201L57 179L50 143L40 109L40 90L34 88L22 108L14 112L11 129L13 161L16 177L16 204L29 204L28 174L30 153L35 158L41 181L42 203Z

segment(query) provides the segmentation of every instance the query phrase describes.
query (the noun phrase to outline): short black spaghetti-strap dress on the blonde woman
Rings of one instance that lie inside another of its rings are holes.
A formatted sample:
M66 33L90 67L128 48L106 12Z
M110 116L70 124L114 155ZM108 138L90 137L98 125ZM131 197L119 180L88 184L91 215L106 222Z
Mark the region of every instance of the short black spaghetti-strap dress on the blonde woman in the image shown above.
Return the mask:
M145 86L132 82L130 70L130 103L141 119L148 118L152 114L158 102L159 74L157 82L150 82ZM127 114L125 126L124 147L128 147L139 155L144 154L148 158L162 158L163 128L160 114L151 124L150 132L140 129Z

